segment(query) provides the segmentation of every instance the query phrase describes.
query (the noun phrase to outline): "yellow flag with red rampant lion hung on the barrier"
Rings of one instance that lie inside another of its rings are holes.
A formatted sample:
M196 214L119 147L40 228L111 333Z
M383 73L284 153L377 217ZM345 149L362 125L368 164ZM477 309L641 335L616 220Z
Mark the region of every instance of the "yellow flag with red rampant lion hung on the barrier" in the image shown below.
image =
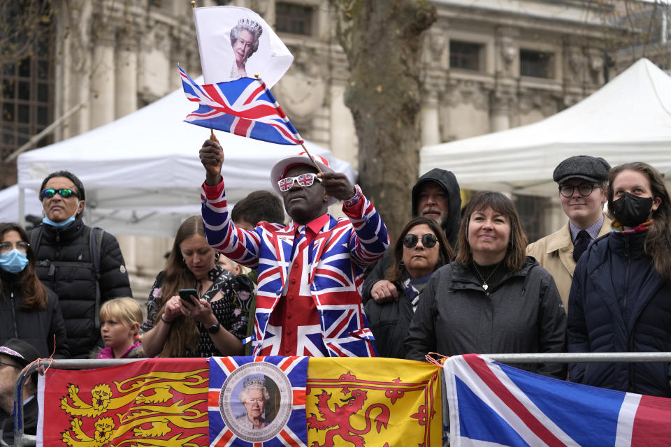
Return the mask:
M440 372L391 358L310 358L308 446L442 446Z

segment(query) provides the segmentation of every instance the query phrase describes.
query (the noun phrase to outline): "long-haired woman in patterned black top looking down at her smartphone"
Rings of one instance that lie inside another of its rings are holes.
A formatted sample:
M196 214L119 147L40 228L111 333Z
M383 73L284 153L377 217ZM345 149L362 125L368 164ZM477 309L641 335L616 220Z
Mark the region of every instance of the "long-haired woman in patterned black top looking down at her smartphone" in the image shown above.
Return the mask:
M145 356L240 356L247 314L238 293L253 288L245 279L216 265L200 216L185 220L147 301Z

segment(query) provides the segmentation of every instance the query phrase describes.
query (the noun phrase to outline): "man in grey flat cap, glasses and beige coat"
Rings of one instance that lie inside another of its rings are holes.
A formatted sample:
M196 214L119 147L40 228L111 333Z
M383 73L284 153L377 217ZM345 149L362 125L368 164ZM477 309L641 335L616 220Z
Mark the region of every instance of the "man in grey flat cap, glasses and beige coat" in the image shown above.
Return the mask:
M568 309L575 264L589 243L610 228L603 214L609 170L607 161L589 155L572 156L559 163L552 178L559 185L559 200L568 223L526 247L526 254L554 277L564 309Z

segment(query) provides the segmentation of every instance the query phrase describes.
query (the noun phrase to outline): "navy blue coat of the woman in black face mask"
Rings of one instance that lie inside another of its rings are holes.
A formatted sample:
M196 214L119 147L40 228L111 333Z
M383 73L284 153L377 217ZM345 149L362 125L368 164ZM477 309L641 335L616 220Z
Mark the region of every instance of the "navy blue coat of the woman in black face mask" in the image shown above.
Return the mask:
M570 352L671 351L671 284L644 254L647 232L595 240L573 273L568 299ZM569 379L671 397L668 363L575 363Z

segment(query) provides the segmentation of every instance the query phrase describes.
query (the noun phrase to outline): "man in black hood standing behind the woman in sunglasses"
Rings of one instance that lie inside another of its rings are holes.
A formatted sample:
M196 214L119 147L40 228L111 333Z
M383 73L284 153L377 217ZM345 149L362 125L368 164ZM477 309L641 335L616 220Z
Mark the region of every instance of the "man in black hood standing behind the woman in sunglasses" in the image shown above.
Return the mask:
M426 217L438 223L456 253L461 224L461 190L452 172L434 168L419 177L412 186L412 217ZM363 281L361 299L364 305L370 298L382 305L401 297L402 291L385 279L393 265L394 249L391 247Z

